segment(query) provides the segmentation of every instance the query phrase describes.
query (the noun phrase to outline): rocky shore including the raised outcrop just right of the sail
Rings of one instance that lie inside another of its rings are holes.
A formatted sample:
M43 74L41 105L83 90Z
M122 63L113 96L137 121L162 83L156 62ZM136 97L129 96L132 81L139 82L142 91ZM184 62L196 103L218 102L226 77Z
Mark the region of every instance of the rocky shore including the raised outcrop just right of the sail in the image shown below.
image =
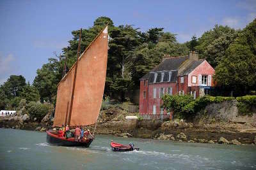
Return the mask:
M123 138L151 138L188 143L256 144L256 124L212 122L210 124L182 120L125 120L131 115L122 107L100 111L96 134L111 134ZM134 114L135 115L135 114ZM0 117L1 128L26 129L44 132L52 126L51 114L42 121L31 120L29 115ZM86 127L93 130L93 126Z

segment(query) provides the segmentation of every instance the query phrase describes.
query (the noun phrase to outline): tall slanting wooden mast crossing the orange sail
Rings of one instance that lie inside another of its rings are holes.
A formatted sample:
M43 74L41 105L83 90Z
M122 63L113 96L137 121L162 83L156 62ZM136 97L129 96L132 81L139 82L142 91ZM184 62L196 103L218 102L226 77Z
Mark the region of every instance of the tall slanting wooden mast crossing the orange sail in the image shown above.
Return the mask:
M79 57L80 57L80 48L81 48L81 34L82 34L82 29L80 29L79 42L78 42L78 47L77 47L77 61L76 61L76 68L75 68L75 74L74 74L74 83L73 83L73 87L72 87L72 94L71 94L71 101L70 101L70 110L69 110L69 115L68 115L68 125L70 125L71 114L72 114L72 107L73 107L73 101L74 101L74 92L75 92L75 87L76 87L77 66L78 66L78 60L79 60Z

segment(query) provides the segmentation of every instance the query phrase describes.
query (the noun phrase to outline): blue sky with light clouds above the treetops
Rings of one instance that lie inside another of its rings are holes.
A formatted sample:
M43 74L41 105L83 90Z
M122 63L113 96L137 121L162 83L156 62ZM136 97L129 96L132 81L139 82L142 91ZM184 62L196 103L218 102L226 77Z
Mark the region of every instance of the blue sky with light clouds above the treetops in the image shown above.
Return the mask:
M140 31L163 27L180 43L214 25L243 29L256 18L256 0L244 1L13 1L0 0L0 85L10 75L33 83L36 69L68 46L71 31L92 27L97 17Z

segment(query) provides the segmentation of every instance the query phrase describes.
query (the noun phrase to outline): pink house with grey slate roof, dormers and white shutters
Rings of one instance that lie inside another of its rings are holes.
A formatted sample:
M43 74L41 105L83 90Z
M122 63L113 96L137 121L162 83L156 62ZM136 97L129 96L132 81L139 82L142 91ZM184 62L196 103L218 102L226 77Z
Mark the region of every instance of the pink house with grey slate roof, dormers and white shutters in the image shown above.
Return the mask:
M214 86L215 71L197 52L188 56L164 56L163 61L140 79L140 113L170 114L161 108L164 94L185 95L194 98L207 95Z

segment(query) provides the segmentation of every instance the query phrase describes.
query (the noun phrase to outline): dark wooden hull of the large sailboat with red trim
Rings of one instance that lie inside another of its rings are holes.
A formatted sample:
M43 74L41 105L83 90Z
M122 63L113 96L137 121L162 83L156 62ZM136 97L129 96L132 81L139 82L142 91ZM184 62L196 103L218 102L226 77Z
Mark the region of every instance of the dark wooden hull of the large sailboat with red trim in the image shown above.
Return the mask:
M52 133L51 131L46 131L47 133L47 143L51 143L52 145L57 146L83 146L88 148L92 143L93 139L78 139L74 138L64 138L59 137L57 134Z

